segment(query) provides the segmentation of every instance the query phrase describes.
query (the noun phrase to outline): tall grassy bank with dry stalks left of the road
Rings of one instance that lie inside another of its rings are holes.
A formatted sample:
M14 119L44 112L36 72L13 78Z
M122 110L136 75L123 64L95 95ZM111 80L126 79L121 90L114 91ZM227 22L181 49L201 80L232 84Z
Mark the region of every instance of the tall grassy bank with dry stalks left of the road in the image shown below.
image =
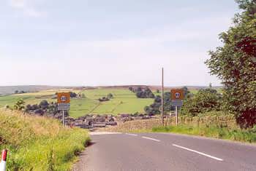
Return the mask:
M83 151L86 130L63 128L56 119L0 110L0 149L7 148L7 170L69 170Z

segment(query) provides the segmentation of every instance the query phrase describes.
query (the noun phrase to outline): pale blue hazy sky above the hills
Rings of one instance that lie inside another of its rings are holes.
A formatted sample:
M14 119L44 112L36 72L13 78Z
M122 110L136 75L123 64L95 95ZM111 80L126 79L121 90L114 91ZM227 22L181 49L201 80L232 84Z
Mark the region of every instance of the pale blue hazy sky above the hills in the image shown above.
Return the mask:
M220 85L234 0L0 0L0 86Z

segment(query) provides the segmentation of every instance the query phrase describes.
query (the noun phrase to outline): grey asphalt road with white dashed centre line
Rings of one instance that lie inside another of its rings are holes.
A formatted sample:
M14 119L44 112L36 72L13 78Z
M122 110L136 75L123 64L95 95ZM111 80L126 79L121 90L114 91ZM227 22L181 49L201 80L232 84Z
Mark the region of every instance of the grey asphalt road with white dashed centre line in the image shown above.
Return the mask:
M165 133L91 135L74 170L256 170L256 146Z

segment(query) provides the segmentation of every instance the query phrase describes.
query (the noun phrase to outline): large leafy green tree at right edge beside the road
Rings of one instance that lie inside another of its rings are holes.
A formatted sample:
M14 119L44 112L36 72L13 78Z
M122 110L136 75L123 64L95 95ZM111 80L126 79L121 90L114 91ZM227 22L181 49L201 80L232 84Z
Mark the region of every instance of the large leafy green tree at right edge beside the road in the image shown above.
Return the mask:
M224 45L210 51L211 74L225 85L225 108L236 114L241 127L256 124L256 1L237 0L242 12L233 26L219 35Z

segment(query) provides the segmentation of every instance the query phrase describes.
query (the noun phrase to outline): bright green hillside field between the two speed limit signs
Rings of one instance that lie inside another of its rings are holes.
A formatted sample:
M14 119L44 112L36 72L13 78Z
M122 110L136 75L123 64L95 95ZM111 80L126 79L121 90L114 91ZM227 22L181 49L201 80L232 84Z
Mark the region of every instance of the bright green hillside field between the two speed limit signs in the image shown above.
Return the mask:
M137 98L133 92L125 89L95 89L83 90L86 98L72 99L70 116L78 117L84 114L121 114L143 112L144 107L153 103L154 99ZM113 94L109 101L99 102L99 98Z

